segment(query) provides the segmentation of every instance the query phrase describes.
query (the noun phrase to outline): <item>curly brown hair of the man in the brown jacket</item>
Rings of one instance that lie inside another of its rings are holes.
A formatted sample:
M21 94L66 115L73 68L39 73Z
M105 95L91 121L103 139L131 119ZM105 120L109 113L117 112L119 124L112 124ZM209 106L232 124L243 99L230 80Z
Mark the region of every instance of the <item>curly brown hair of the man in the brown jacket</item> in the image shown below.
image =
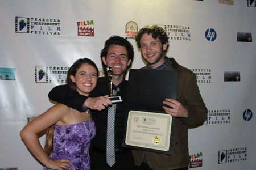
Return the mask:
M139 30L137 33L137 36L135 37L135 40L137 42L137 45L139 48L141 48L141 43L139 42L141 40L141 37L144 33L147 33L148 35L152 35L154 39L157 37L159 38L160 42L163 44L168 43L169 37L166 34L166 31L162 27L159 27L158 25L147 25ZM169 44L167 45L166 50L169 48ZM165 50L165 52L166 52Z

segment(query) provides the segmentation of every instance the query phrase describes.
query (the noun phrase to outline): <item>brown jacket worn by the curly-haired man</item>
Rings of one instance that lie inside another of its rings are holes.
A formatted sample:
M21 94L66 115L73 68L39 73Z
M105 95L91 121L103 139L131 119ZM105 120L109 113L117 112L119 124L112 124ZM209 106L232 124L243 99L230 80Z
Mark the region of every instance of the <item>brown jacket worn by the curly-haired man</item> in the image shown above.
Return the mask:
M203 124L208 113L197 86L196 74L179 65L174 58L169 59L172 64L168 70L177 70L178 73L176 100L188 109L188 117L175 118L172 155L133 150L135 165L141 165L146 155L147 164L157 170L188 167L188 124ZM142 69L149 69L149 66Z

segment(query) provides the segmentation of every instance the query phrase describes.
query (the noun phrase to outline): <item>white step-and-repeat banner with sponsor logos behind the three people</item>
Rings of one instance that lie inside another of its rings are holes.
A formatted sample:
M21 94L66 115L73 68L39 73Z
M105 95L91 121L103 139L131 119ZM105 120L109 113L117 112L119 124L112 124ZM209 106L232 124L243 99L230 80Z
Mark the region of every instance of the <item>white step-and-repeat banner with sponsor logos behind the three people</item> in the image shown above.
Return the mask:
M152 24L170 36L167 56L197 75L208 108L189 129L189 169L256 169L255 0L2 0L0 19L1 170L42 169L19 132L53 105L48 92L76 59L101 69L112 35L134 45L132 68L143 67L134 37Z

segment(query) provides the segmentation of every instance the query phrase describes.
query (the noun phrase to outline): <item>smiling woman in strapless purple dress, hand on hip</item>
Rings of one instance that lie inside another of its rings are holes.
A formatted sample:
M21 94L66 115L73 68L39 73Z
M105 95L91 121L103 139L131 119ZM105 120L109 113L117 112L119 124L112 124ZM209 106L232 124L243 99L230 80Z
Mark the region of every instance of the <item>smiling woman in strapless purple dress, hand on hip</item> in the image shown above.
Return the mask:
M81 95L88 96L98 78L98 68L88 58L77 60L68 70L67 84ZM104 96L109 104L111 101ZM44 150L38 133L48 129ZM27 124L20 137L28 150L44 164L43 169L90 169L90 141L96 133L89 111L79 112L56 104Z

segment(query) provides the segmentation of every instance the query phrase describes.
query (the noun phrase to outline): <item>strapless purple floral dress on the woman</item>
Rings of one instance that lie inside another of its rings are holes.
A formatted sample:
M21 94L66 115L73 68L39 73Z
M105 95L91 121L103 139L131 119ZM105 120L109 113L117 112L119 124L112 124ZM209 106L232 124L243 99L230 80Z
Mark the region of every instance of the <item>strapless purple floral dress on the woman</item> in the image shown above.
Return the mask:
M72 168L69 169L90 169L88 150L95 133L94 121L64 126L55 125L53 151L49 157L71 160ZM43 170L46 169L48 168L43 168Z

